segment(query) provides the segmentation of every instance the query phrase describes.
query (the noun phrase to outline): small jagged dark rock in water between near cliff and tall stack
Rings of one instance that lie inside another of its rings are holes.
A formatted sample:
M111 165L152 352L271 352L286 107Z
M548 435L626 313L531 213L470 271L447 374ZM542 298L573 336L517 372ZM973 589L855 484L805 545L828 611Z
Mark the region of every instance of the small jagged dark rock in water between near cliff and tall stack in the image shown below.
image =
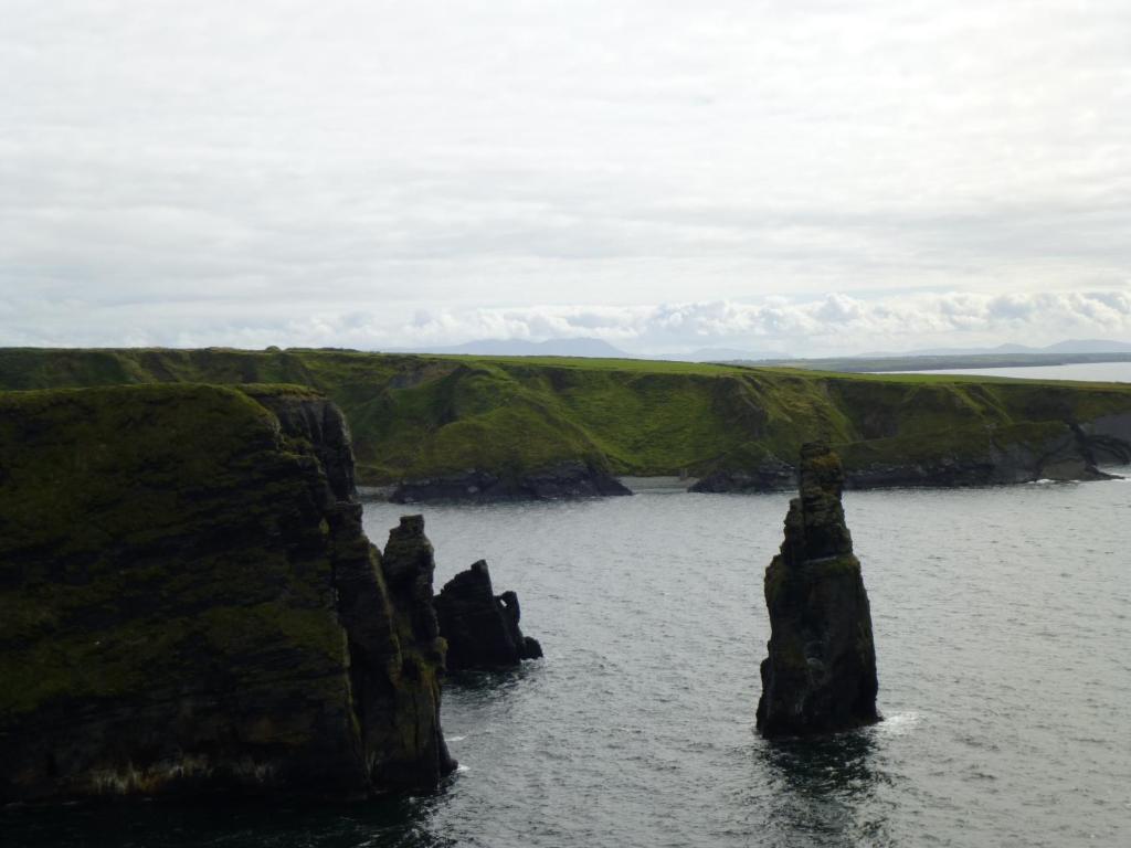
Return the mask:
M538 640L523 635L518 626L518 596L494 594L483 560L444 583L435 611L448 642L449 670L516 666L542 656Z

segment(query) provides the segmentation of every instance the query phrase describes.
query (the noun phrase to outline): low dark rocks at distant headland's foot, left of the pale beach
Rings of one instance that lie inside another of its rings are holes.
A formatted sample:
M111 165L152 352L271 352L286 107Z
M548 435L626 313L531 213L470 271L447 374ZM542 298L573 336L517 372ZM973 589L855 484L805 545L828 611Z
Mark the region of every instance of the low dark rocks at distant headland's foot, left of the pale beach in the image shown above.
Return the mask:
M400 483L389 496L394 503L432 501L545 501L632 492L606 471L585 462L562 462L542 471L503 477L490 471L430 477Z

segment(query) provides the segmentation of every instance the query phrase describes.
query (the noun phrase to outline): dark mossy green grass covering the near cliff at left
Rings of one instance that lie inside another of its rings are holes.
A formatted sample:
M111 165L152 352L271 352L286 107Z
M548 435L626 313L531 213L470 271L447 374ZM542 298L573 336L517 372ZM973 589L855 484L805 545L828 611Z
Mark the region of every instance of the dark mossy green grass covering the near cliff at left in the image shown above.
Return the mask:
M344 668L314 459L249 393L310 392L0 392L0 724L174 686L207 657L247 684L260 667Z

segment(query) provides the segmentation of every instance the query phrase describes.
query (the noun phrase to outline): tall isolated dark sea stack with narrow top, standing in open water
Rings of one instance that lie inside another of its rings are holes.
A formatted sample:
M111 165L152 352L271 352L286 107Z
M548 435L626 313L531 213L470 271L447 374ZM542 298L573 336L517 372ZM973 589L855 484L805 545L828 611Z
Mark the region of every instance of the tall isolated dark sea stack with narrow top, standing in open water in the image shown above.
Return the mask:
M782 551L766 569L770 640L758 730L767 737L880 719L872 615L840 504L840 458L826 444L803 445L800 481Z

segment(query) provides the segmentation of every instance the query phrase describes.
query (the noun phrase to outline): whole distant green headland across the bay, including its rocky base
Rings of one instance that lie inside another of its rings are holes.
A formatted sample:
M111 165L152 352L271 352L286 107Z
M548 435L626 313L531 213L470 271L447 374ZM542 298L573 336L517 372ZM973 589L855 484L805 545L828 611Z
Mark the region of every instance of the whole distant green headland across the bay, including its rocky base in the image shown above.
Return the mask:
M336 349L0 348L0 389L297 383L349 421L357 482L404 503L796 485L801 445L849 487L1096 479L1131 458L1131 386L569 357ZM1095 460L1095 461L1093 461Z

